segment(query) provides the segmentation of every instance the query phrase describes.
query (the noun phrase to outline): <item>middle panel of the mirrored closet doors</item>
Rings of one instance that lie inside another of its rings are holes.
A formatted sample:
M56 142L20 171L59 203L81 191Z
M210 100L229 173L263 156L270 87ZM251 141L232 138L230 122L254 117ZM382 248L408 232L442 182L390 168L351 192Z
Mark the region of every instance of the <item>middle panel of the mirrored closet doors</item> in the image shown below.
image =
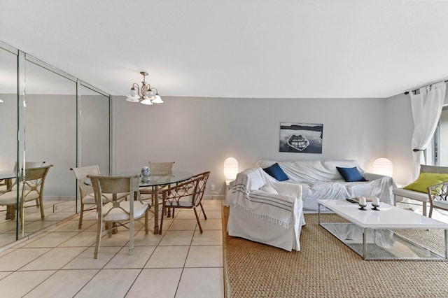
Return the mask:
M43 214L35 201L23 209L25 235L76 213L70 171L76 166L76 78L56 71L25 55L25 168L52 165L44 181Z

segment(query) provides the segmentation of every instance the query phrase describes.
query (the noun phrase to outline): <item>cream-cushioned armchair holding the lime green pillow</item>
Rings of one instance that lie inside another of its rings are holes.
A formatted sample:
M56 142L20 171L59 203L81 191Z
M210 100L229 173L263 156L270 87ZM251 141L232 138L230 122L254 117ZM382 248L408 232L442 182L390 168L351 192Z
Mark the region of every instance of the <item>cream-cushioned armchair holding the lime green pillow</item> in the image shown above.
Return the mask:
M421 164L419 177L405 187L393 190L393 204L402 202L405 198L421 201L423 216L426 216L427 205L430 203L428 187L448 181L448 166L427 166ZM406 204L412 204L406 202ZM432 204L431 204L432 206Z

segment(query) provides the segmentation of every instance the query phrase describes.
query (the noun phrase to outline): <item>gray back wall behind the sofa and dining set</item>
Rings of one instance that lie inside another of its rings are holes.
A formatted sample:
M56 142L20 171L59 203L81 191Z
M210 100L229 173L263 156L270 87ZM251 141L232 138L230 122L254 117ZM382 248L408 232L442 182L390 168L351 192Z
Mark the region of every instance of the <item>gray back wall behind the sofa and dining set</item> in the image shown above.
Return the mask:
M174 160L175 169L210 170L209 184L220 189L223 162L230 156L238 159L240 171L258 159L356 159L372 171L374 159L388 157L394 178L406 180L412 134L408 98L163 97L164 104L144 106L113 97L113 171ZM280 122L322 123L322 154L279 152Z

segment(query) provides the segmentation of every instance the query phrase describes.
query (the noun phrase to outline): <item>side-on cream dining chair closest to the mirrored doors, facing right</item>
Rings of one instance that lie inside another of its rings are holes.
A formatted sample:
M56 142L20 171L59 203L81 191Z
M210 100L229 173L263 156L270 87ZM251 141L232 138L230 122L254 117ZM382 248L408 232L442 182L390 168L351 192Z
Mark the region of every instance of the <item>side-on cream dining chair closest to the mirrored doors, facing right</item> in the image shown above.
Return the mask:
M79 211L79 223L78 229L83 225L83 215L85 211L94 210L97 208L97 203L95 201L94 191L92 185L85 184L87 175L99 176L99 166L95 164L94 166L80 166L78 168L71 168L78 181L79 188L79 198L80 198L80 211ZM126 197L128 193L117 194L121 199ZM112 194L104 194L108 199L113 199Z

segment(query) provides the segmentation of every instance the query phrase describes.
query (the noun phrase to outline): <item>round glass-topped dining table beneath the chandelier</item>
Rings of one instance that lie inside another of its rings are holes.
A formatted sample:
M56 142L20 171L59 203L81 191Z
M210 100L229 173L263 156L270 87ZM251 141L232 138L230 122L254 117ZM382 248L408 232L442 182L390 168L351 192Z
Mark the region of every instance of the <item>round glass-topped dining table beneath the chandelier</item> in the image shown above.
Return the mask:
M123 175L131 175L135 172L126 172L126 173L116 173L111 176L123 176ZM154 234L159 234L159 190L165 185L174 184L183 182L193 177L193 173L188 171L175 171L173 170L171 175L151 175L148 177L140 177L139 179L139 187L153 187L154 192L154 208L151 208L150 211L154 213ZM86 185L92 185L92 182L89 178L84 180Z

